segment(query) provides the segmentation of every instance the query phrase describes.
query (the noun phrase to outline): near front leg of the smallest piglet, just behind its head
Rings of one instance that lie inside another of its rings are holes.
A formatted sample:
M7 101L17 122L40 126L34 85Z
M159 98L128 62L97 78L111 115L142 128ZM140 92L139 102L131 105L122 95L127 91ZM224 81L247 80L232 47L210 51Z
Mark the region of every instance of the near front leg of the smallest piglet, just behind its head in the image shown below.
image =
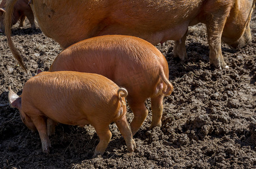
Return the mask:
M50 153L51 142L47 134L46 119L43 117L35 117L32 118L32 121L39 133L42 142L43 152L47 154Z

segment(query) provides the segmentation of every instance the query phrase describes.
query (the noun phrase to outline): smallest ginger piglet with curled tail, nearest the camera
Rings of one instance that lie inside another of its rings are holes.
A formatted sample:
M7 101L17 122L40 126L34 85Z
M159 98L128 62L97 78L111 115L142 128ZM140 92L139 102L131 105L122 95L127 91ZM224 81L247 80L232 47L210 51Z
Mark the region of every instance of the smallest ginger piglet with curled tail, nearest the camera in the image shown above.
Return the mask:
M38 131L45 153L49 153L51 147L48 137L54 131L51 124L56 122L91 124L100 139L94 156L104 153L112 136L109 124L115 122L127 149L134 151L136 145L126 119L127 90L102 75L42 72L24 84L20 97L10 86L8 90L10 105L19 109L21 120L30 130Z

